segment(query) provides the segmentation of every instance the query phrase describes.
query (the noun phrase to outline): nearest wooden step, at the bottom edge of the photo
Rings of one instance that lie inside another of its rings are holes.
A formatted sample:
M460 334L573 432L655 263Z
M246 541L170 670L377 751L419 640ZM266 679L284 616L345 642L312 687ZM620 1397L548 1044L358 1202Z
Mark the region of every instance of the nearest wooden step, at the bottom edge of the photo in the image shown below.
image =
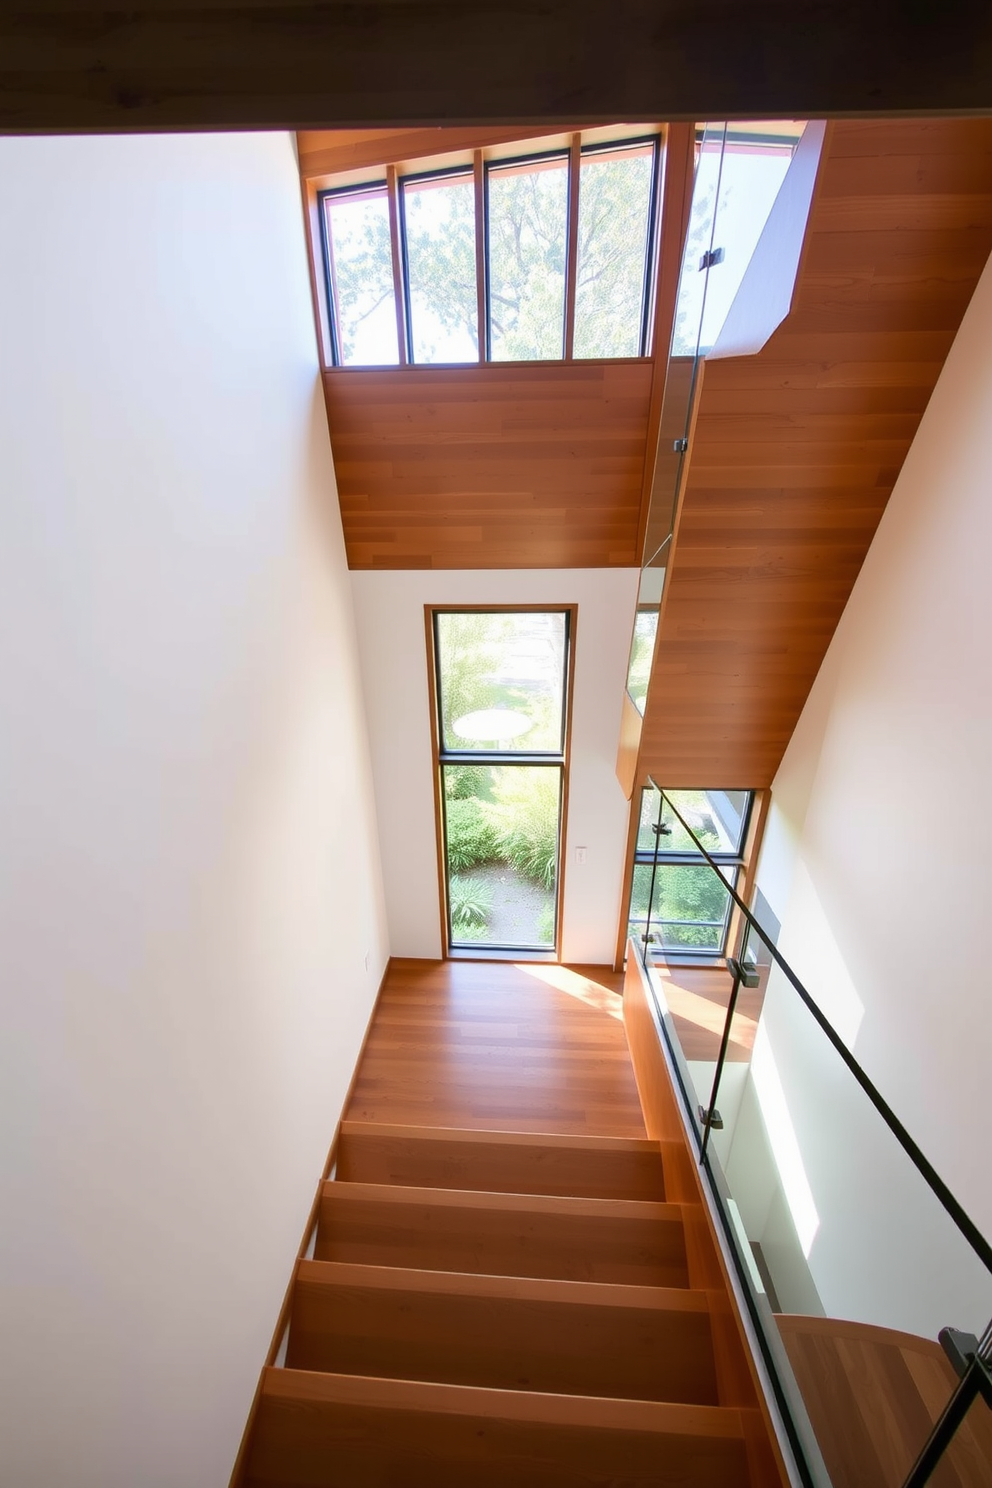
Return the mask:
M744 1412L266 1369L247 1488L747 1488Z

